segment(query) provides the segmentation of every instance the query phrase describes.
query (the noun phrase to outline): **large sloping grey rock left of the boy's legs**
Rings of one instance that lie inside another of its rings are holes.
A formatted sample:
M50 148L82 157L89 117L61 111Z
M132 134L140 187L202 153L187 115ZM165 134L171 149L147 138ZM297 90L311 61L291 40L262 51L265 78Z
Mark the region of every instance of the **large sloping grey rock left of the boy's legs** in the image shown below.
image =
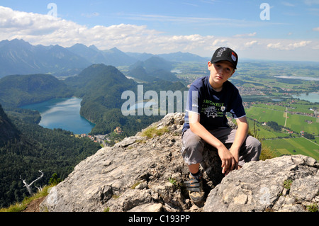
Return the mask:
M79 163L41 204L45 211L181 211L191 208L180 183L187 166L180 156L182 114L150 126L163 135L139 132ZM147 130L147 129L145 129Z

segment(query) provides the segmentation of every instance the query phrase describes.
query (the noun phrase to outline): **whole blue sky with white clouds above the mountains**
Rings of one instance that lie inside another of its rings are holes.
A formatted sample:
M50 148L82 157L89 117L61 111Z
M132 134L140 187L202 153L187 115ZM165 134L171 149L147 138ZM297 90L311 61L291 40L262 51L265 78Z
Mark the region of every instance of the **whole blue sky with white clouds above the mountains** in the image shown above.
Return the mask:
M57 18L47 16L52 9ZM154 54L208 57L229 46L245 58L319 61L318 21L319 0L0 0L1 40Z

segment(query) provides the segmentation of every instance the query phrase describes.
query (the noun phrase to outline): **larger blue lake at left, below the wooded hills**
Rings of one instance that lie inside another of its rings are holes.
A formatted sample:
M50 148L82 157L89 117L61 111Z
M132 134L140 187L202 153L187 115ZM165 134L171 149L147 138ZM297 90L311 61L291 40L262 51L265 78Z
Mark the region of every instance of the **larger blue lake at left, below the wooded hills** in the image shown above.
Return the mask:
M39 111L41 115L39 125L44 128L61 128L74 132L74 134L87 134L94 128L94 124L79 114L81 101L82 99L76 97L55 98L21 108Z

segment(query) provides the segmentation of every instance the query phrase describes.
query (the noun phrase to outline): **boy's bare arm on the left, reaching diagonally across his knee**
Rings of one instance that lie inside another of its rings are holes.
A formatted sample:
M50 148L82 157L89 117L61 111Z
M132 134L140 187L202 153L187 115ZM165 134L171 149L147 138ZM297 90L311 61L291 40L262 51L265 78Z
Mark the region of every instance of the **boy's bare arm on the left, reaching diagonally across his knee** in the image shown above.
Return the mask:
M192 113L189 111L189 126L191 129L191 132L194 132L196 135L201 137L203 140L208 142L209 145L212 145L213 147L216 147L218 150L218 155L222 161L222 172L223 174L227 175L231 170L235 167L235 158L231 154L231 152L223 145L220 140L218 140L215 136L211 134L211 132L208 132L206 128L201 125L200 122L200 116L197 113ZM237 138L237 142L240 142L240 136ZM235 150L235 147L234 147ZM238 159L237 159L238 161Z

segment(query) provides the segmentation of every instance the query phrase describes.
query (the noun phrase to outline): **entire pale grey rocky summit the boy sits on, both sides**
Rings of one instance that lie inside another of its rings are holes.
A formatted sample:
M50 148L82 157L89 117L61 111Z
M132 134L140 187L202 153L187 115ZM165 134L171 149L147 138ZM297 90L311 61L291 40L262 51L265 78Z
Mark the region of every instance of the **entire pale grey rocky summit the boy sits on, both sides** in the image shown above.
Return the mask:
M304 211L318 205L315 159L299 155L251 162L224 177L210 147L201 164L209 195L206 203L194 205L182 185L189 174L180 154L183 123L184 114L169 114L150 126L164 128L164 134L146 137L142 131L100 149L51 189L40 210Z

